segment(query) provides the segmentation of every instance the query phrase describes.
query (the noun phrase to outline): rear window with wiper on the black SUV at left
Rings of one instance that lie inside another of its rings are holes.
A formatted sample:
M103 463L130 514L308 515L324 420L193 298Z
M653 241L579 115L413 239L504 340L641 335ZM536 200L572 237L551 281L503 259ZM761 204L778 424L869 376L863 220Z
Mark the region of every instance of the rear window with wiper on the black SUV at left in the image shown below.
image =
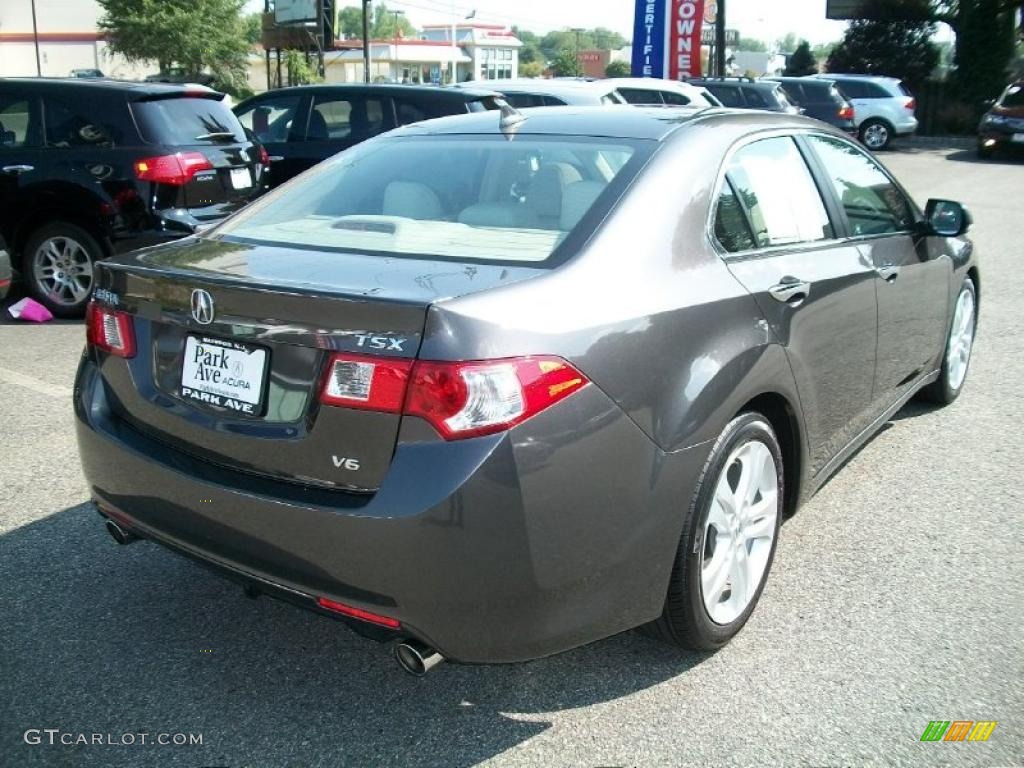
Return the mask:
M131 105L142 138L154 144L241 142L239 119L227 104L213 98L162 98Z

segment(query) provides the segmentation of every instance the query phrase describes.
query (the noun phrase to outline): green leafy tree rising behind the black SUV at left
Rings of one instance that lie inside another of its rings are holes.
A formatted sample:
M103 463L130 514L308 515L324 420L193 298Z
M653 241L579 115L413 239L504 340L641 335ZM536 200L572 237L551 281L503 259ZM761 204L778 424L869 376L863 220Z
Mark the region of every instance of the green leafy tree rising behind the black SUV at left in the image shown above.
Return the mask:
M98 0L99 29L111 50L130 61L157 61L161 71L209 71L217 88L247 90L252 48L242 15L245 0Z

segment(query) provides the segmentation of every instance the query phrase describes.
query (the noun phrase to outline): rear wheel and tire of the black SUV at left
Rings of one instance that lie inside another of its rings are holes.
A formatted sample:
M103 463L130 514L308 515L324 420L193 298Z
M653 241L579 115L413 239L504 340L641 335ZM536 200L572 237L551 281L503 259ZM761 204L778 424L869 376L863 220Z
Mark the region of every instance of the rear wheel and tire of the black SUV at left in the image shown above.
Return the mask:
M22 274L34 299L57 317L81 317L92 295L96 262L105 254L80 226L54 221L25 246Z

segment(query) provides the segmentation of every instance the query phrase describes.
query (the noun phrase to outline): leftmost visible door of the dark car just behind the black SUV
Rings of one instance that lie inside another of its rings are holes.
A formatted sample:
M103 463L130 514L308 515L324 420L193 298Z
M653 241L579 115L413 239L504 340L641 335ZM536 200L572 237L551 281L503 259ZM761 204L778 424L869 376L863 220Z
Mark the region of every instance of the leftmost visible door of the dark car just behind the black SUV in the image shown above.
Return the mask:
M309 167L302 159L302 142L310 101L309 96L300 93L268 93L236 110L242 126L252 132L270 156L266 181L271 187Z

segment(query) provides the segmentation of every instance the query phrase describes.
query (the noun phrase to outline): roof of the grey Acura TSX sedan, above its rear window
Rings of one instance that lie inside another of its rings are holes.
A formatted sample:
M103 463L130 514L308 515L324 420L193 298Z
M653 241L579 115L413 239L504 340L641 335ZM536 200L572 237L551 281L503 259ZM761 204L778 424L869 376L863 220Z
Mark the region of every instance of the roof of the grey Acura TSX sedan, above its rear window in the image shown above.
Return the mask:
M821 123L796 115L719 106L541 106L519 111L526 119L514 134L577 136L665 141L690 123L709 120L734 124L737 130L821 128ZM497 111L427 120L398 128L386 136L501 135Z

